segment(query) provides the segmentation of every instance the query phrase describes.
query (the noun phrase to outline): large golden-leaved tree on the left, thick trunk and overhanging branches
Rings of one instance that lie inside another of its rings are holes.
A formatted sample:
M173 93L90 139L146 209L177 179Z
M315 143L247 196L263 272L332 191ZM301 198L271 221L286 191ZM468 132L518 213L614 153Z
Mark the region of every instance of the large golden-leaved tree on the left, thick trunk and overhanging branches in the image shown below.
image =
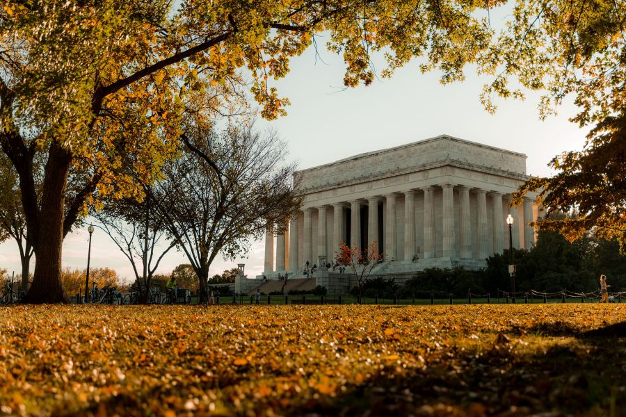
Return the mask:
M176 148L187 103L204 101L214 114L237 108L238 68L248 68L268 119L289 104L269 77L287 74L289 58L325 31L346 62L346 86L371 83L370 53L383 50L385 76L428 56L444 81L460 79L463 65L488 47L481 8L501 3L6 0L0 146L19 176L36 255L26 300L65 300L63 237L88 204L138 193L120 160L130 158L136 177L154 181ZM45 160L40 190L35 156ZM71 170L81 181L68 188Z

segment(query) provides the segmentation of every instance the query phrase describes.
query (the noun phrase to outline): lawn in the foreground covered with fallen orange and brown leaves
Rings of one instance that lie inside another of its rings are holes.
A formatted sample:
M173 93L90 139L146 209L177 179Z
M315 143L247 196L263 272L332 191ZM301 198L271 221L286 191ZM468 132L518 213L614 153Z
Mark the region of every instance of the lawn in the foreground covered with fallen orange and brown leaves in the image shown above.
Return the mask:
M15 306L0 414L626 414L626 305Z

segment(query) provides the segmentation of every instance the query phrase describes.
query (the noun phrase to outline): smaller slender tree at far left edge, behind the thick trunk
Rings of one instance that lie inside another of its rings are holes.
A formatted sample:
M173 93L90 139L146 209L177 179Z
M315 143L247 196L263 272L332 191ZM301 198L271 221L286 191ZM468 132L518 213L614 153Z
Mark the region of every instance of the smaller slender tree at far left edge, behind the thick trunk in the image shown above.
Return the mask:
M17 174L5 155L0 154L0 241L13 238L22 263L22 289L29 288L33 243L26 231Z

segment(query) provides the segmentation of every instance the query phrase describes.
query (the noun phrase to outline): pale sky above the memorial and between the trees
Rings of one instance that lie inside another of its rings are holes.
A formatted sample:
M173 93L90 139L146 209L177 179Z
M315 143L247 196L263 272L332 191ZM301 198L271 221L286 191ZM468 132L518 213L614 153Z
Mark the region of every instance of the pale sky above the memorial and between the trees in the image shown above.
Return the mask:
M323 37L318 39L318 45L325 43ZM527 92L525 101L499 99L497 113L490 115L480 102L488 78L476 76L470 69L463 83L441 85L438 72L422 74L417 62L398 70L392 79L376 79L368 87L344 90L342 59L323 46L317 52L309 48L293 58L287 77L271 84L281 96L289 97L288 115L256 123L257 129L278 132L298 169L448 134L526 154L527 174L544 176L550 173L547 163L551 158L584 144L587 130L568 121L576 113L571 100L545 121L538 117L539 95L532 92ZM383 63L376 62L376 70L383 69ZM64 267L86 268L88 239L86 227L65 238ZM184 254L172 250L157 273L169 273L179 263L187 263ZM209 276L237 263L246 264L248 277L259 275L264 266L264 242L252 244L245 259L218 257ZM109 267L120 277L134 277L129 261L99 229L93 234L90 266ZM0 244L0 268L8 269L9 274L15 270L16 275L21 270L17 244L12 240Z

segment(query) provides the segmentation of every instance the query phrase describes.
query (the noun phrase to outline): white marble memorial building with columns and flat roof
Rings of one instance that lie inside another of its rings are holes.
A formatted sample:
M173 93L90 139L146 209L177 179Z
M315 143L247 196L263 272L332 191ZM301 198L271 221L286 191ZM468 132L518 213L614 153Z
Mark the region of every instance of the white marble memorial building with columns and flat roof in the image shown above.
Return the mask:
M332 263L342 242L376 242L385 261L372 276L481 268L508 247L509 213L513 246L529 249L536 239L529 222L538 216L533 196L509 207L528 178L526 158L442 135L300 170L302 211L286 233L266 235L264 275L299 277L307 260Z

